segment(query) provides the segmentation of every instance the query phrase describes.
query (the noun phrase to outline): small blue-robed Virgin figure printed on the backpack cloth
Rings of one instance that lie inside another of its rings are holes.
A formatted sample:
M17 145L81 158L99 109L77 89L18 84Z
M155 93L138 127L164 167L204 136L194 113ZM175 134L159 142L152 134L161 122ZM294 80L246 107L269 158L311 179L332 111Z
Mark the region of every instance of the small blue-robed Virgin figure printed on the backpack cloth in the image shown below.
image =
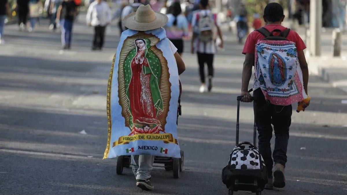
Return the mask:
M277 54L272 53L270 58L270 76L271 82L275 86L283 85L285 81L285 63Z

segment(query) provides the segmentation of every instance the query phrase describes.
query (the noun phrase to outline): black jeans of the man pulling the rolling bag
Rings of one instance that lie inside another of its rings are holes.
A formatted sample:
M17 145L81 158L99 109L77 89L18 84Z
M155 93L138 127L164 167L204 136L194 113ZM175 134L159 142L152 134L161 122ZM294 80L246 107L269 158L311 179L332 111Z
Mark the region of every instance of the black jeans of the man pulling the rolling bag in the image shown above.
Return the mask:
M266 102L260 88L253 92L256 97L256 113L258 128L259 152L262 155L268 176L272 176L273 162L286 166L287 146L289 139L289 126L291 124L291 105L281 106ZM271 158L270 141L272 138L272 126L275 133L275 147Z

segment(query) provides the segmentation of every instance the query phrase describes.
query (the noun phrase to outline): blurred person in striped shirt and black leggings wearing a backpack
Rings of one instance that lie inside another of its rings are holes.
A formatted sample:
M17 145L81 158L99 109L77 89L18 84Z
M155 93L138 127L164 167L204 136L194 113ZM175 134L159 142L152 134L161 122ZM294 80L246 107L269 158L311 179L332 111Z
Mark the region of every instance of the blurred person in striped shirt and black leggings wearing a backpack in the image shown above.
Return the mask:
M212 90L213 57L216 50L215 41L218 34L221 42L219 47L223 48L223 35L219 28L220 23L217 14L209 10L209 0L200 0L200 10L192 18L193 37L191 52L197 52L201 86L200 93ZM208 67L208 86L205 83L205 63Z

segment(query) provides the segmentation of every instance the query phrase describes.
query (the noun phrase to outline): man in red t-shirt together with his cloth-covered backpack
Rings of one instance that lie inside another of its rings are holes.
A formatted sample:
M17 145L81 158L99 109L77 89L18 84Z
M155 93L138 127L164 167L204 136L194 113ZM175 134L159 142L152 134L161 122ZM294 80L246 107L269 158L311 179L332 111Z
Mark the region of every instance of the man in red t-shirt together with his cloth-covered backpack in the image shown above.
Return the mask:
M308 67L304 54L305 43L296 32L281 25L285 18L281 5L269 3L264 9L263 18L266 26L249 34L242 51L246 56L242 71L241 101L252 102L248 84L252 66L255 66L253 96L256 98L259 151L268 171L269 182L265 189L272 189L286 185L284 170L291 104L308 97ZM271 125L276 137L273 152L270 147Z

